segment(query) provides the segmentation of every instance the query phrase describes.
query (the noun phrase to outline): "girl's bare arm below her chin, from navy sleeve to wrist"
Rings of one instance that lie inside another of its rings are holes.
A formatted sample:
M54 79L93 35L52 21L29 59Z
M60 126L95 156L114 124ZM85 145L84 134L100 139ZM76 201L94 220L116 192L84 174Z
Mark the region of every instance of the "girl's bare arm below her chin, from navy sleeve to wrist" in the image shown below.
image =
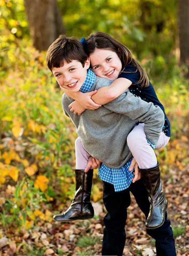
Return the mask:
M110 101L113 101L119 97L126 89L131 86L132 82L126 78L118 78L114 80L109 86L101 87L97 93L92 95L92 100L97 103L104 105Z

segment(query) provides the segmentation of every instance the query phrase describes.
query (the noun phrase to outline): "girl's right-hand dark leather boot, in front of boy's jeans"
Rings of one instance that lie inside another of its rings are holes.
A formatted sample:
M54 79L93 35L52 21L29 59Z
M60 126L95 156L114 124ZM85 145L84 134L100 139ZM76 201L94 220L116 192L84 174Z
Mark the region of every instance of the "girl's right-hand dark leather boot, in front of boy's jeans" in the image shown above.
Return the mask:
M167 199L162 191L159 163L150 169L140 169L145 188L150 201L150 212L145 222L147 229L156 229L163 225L167 210Z

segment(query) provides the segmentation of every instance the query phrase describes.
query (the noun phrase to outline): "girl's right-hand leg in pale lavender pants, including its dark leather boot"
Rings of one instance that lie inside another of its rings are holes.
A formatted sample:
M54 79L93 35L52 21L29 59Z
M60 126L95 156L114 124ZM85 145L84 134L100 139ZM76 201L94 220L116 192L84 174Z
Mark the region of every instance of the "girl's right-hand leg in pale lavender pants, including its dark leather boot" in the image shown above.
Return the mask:
M168 139L166 140L168 142ZM165 136L161 133L158 147L166 144ZM162 191L159 164L153 148L147 142L144 124L137 125L128 135L127 143L133 157L139 165L144 185L150 200L150 212L145 222L148 229L156 229L163 225L167 210L167 199Z

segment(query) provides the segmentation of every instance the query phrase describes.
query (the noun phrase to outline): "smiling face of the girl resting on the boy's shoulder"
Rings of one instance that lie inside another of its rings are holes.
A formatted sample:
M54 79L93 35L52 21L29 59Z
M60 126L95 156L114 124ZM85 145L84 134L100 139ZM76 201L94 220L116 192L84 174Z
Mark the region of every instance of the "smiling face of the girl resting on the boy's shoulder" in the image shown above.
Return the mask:
M97 76L109 80L117 79L122 69L121 60L117 53L111 50L95 49L89 57L92 70Z

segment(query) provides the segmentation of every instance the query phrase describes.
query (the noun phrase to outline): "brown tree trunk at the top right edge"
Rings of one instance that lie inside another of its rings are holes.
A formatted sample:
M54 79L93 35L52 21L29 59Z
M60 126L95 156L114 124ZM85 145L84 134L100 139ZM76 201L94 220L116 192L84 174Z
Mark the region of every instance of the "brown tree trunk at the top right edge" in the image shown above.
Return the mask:
M178 0L180 64L189 67L189 0Z

